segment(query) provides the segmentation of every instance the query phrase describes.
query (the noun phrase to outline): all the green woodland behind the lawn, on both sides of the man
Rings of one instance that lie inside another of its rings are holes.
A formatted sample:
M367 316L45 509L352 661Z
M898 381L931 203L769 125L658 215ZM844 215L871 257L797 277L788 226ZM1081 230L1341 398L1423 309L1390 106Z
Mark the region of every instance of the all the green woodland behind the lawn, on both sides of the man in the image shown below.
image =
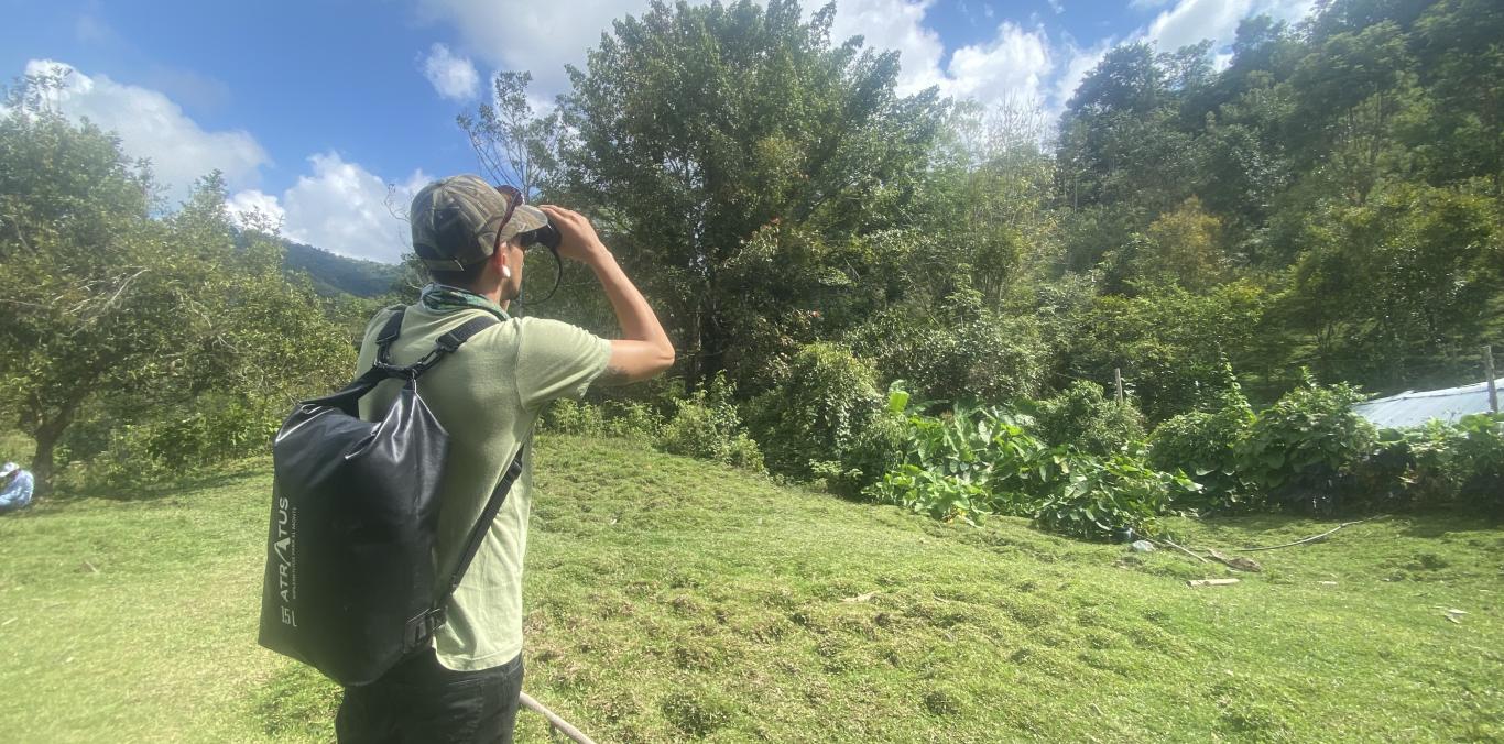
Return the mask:
M1247 449L1265 406L1284 433L1342 418L1333 436L1366 458L1352 400L1477 382L1480 349L1504 346L1496 3L1333 0L1244 21L1230 56L1120 45L1059 120L901 96L896 53L833 39L833 12L654 3L546 111L517 71L459 116L490 176L593 216L675 341L669 383L596 394L612 425L872 488L938 431L883 410L972 412L1169 488L1215 479L1221 455L1166 445L1149 469L1148 445L1230 422L1224 449ZM0 117L6 425L39 475L56 458L78 482L265 451L421 275L238 224L215 174L164 209L108 132L48 110L48 84L23 81ZM529 259L529 293L552 268ZM514 310L614 334L591 277L564 271L552 302Z

